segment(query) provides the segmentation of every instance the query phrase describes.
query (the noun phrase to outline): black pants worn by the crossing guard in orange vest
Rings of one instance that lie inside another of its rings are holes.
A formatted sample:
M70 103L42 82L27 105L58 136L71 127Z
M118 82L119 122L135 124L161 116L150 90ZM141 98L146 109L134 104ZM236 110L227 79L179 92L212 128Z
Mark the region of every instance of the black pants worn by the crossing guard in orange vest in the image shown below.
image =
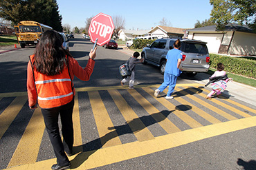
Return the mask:
M46 130L53 145L55 156L57 158L57 164L60 166L66 166L69 164L69 160L66 156L66 153L72 153L74 142L72 120L73 107L74 100L60 107L42 109L42 114L44 116L44 124L46 125ZM58 125L59 114L62 123L63 142L60 136L60 130ZM66 151L66 153L64 151Z

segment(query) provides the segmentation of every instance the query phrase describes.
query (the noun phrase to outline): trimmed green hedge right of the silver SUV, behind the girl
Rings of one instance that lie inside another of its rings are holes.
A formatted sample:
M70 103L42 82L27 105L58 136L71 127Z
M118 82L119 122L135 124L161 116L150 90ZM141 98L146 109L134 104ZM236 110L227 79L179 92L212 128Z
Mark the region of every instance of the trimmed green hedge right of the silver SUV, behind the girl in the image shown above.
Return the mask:
M223 63L225 71L251 78L256 78L256 59L241 57L221 56L210 54L210 67L217 68L217 63Z

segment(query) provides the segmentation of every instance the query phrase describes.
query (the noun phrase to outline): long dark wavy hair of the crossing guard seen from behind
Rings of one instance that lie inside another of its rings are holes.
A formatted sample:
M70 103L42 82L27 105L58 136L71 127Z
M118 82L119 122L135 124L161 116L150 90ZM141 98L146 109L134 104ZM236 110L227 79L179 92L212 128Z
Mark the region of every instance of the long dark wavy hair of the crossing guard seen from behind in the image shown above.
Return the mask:
M62 36L53 31L47 30L42 34L37 47L35 48L35 69L37 72L54 76L60 74L66 65L66 54L69 52L62 47Z

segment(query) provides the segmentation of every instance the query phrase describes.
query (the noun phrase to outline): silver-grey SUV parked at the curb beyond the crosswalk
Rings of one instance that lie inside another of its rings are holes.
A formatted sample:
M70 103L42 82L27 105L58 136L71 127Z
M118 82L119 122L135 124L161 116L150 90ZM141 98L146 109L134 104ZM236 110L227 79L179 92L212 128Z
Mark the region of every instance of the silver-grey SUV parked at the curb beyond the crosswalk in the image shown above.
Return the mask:
M165 56L169 50L172 50L175 41L176 39L157 39L151 45L147 45L141 52L143 63L158 66L161 74L164 74ZM210 57L205 42L182 39L179 50L182 52L181 71L189 76L195 76L197 72L208 72Z

